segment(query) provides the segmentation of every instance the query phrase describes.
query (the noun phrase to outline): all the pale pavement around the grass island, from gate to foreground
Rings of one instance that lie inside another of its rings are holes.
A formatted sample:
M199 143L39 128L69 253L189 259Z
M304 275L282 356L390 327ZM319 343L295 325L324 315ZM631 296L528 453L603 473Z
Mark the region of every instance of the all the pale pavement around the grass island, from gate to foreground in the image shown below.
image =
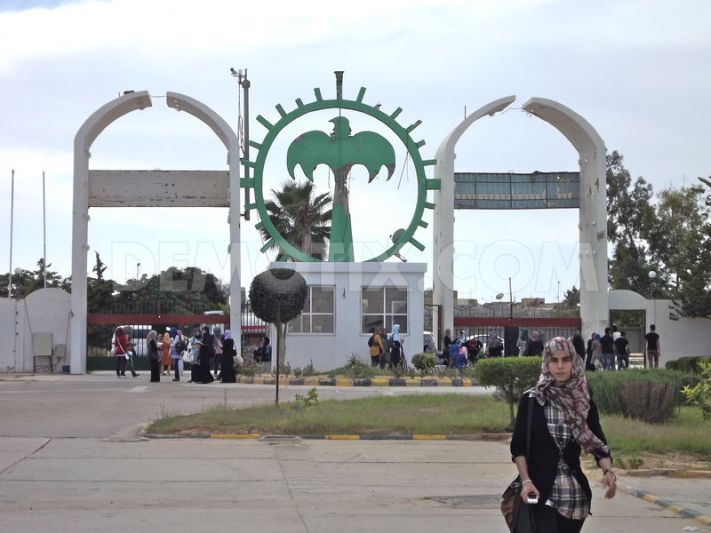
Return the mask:
M413 391L320 389L341 398L406 392ZM0 530L506 531L498 497L514 468L505 443L146 441L137 434L161 412L265 402L272 394L268 386L153 385L144 376L2 379ZM675 490L711 493L699 483ZM607 501L597 484L593 490L588 531L706 529L630 494Z

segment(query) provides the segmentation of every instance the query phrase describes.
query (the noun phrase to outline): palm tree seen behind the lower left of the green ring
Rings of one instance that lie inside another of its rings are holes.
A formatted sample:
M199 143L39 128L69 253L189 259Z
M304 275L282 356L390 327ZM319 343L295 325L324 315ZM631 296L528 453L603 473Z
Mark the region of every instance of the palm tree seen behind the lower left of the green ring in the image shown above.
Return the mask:
M331 236L332 210L324 211L332 202L328 193L314 196L313 183L303 185L286 182L281 191L272 189L274 200L269 200L264 207L269 213L274 227L280 235L299 250L317 259L326 257L326 241ZM268 240L269 234L262 228L262 237ZM274 243L270 249L278 248ZM279 250L277 261L286 260L288 255Z

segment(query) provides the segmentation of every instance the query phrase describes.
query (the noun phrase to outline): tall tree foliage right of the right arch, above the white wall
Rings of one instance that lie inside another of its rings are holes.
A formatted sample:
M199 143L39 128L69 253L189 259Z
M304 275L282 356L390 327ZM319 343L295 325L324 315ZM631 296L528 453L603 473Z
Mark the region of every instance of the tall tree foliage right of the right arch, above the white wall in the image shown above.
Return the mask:
M607 156L612 288L670 298L677 315L711 318L711 179L699 182L655 195L644 178L632 181L621 154Z

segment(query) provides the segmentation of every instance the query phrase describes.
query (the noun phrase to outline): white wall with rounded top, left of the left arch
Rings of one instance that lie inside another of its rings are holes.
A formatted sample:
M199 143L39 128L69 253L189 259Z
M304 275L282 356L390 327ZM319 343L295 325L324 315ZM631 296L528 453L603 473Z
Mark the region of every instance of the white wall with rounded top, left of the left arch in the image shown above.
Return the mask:
M0 301L0 372L32 372L32 333L51 333L53 346L68 346L69 293L61 289L40 289L24 300ZM67 352L68 353L68 352ZM54 371L65 361L53 359Z

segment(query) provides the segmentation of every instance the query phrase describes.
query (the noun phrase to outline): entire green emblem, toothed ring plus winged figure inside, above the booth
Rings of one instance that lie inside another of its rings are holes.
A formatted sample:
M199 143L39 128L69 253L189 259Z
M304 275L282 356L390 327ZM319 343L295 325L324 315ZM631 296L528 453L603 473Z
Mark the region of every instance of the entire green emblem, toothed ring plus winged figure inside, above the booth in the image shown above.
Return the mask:
M255 161L243 160L242 164L254 169L254 178L244 178L240 184L242 187L254 189L254 202L245 205L245 210L256 209L259 212L260 222L256 225L262 234L267 234L270 238L262 247L264 252L275 246L279 248L280 254L291 257L296 261L319 261L321 257L304 251L300 246L283 235L283 228L277 228L272 221L273 217L267 211L264 199L264 166L269 150L278 134L294 120L303 117L308 113L323 111L326 109L336 109L338 116L333 118L333 132L329 135L323 131L308 131L297 137L287 149L286 165L287 171L292 178L295 178L294 171L297 166L301 167L304 175L313 181L313 173L318 165L327 165L335 177L335 189L333 193L333 208L331 213L331 233L329 246L329 261L354 260L353 235L351 230L351 217L348 205L348 184L347 178L354 165L363 165L368 170L368 182L370 183L384 166L387 170L386 179L390 179L395 172L395 151L382 135L362 131L355 135L351 133L348 118L342 116L344 110L356 111L368 115L387 126L403 143L407 150L408 158L415 169L417 176L417 202L414 205L414 213L409 225L398 231L394 231L392 246L376 257L367 261L384 261L397 254L407 243L412 244L419 250L424 250L424 246L413 237L419 227L426 228L427 223L422 220L425 209L433 209L434 204L427 202L427 192L440 188L439 179L428 179L425 174L425 167L433 166L434 159L423 160L420 155L420 148L425 141L415 141L411 137L411 132L420 124L416 121L408 127L401 126L396 118L402 112L397 108L390 114L386 114L380 106L369 106L363 103L365 88L361 87L355 100L346 100L341 96L342 73L336 73L336 98L325 100L320 89L314 89L316 100L305 104L300 98L296 99L296 109L287 113L281 105L276 106L280 115L279 120L272 124L269 120L259 115L257 121L267 129L267 134L261 143L250 141L250 146L258 150Z

